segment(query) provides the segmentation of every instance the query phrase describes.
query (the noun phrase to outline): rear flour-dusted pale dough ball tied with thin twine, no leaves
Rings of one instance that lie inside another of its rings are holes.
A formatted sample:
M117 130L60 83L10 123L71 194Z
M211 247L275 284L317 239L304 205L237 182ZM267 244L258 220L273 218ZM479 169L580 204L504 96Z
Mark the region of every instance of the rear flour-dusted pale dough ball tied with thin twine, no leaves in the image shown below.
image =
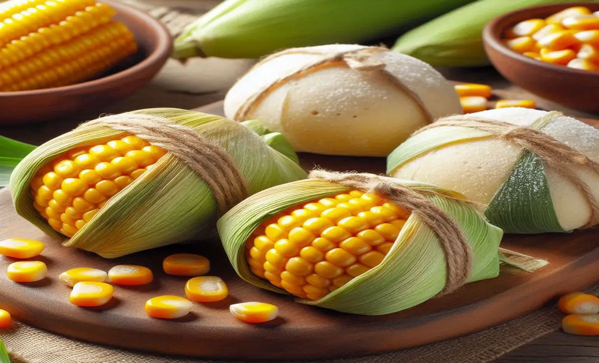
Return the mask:
M461 113L431 66L381 47L322 45L273 54L225 97L232 120L259 118L295 151L386 156L412 132Z

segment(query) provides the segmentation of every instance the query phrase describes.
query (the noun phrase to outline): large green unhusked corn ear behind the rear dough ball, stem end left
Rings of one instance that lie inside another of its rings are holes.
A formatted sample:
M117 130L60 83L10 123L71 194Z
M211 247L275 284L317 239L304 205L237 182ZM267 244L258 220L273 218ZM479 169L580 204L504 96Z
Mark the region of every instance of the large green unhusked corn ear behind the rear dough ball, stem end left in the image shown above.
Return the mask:
M471 1L226 0L187 26L173 57L257 58L285 48L353 44Z

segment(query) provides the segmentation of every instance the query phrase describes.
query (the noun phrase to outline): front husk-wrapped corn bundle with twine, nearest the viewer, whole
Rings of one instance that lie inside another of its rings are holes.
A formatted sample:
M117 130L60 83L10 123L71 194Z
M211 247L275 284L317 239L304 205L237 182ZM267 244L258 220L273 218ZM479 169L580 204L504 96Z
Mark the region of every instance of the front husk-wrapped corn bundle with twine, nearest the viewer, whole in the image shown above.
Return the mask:
M498 253L500 228L461 194L372 174L313 171L254 194L217 227L242 279L362 315L408 309L516 262Z

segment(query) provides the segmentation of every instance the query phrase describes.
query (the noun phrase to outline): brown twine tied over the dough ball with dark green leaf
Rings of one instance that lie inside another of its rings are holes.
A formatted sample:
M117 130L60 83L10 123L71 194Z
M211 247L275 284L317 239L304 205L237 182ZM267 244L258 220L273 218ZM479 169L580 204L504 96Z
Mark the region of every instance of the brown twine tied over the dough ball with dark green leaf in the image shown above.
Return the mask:
M538 121L544 124L559 115L561 115L561 112L548 112ZM444 126L470 127L472 129L485 131L496 136L500 140L511 142L525 150L533 152L533 154L540 157L545 166L552 167L559 173L559 175L576 185L576 187L582 191L586 200L588 200L588 203L591 206L591 218L589 218L588 223L583 226L583 228L589 228L599 224L599 203L597 202L597 199L595 199L592 194L591 188L580 179L580 176L578 176L574 170L568 167L568 165L582 166L594 173L599 173L599 164L586 155L532 127L518 126L504 121L489 120L488 118L467 115L453 115L441 118L435 123L422 127L422 129L416 131L413 135L434 127Z

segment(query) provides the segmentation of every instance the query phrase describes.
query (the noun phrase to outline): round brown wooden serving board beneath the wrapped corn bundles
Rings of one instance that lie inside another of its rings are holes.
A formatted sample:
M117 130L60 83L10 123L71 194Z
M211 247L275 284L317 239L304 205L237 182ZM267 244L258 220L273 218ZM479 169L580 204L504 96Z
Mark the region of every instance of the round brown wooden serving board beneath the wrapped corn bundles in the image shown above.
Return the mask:
M201 109L222 114L222 103ZM595 126L598 120L586 120ZM302 166L335 170L385 172L383 158L300 155ZM502 246L545 258L549 266L536 273L503 267L495 279L469 283L450 295L403 312L359 316L303 306L291 297L264 291L237 277L218 240L173 245L115 260L69 249L50 240L13 211L10 193L0 191L0 240L9 237L46 243L39 258L49 276L36 283L15 283L5 271L11 258L0 257L0 307L38 328L69 337L127 349L210 358L308 359L386 352L458 337L535 310L552 298L599 280L599 231L570 234L506 236ZM166 321L144 313L144 303L158 295L184 295L185 277L162 272L162 259L179 252L205 255L211 272L222 277L230 295L218 303L195 304L190 315ZM35 259L35 258L34 258ZM108 270L116 264L140 264L153 270L147 286L116 286L107 306L87 309L69 303L70 288L58 275L73 267ZM274 321L249 325L229 313L229 304L263 301L279 306Z

